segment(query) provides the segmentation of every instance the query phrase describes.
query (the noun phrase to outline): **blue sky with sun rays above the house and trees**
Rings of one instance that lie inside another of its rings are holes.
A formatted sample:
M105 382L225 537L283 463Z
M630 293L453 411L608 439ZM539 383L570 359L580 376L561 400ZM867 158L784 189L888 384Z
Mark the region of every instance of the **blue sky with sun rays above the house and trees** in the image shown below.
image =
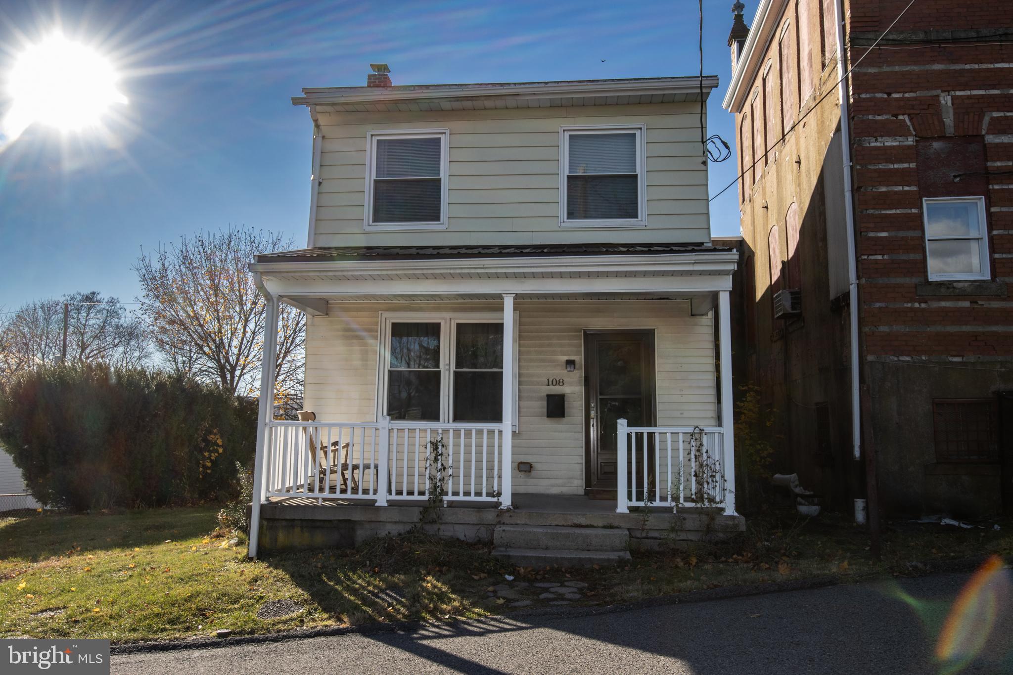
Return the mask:
M709 132L732 144L730 6L704 2L704 71L720 78ZM4 2L0 86L25 40L59 26L114 60L130 102L107 134L36 125L0 142L0 308L76 290L131 302L142 247L200 230L245 225L303 245L301 87L365 84L376 62L396 84L695 75L697 21L692 0ZM8 105L0 96L0 114ZM711 194L734 177L733 159L712 164ZM711 223L738 234L734 189Z

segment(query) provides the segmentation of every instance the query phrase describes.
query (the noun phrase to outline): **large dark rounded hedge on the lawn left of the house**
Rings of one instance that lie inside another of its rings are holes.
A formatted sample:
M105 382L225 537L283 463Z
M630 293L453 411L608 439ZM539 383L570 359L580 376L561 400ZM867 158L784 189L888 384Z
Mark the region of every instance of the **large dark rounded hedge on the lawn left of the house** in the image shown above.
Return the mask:
M221 501L240 490L256 403L192 378L45 366L0 395L0 443L38 501L73 510Z

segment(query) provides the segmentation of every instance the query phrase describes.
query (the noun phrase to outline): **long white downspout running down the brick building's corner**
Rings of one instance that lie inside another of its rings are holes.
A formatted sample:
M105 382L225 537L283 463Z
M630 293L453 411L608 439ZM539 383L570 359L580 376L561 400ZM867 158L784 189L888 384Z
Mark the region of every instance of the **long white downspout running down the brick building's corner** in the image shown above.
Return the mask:
M848 233L848 308L851 328L851 443L852 456L862 458L862 414L858 353L858 264L855 259L855 208L854 189L851 182L851 130L849 129L848 81L844 69L844 0L834 3L837 20L837 77L838 95L841 98L841 156L844 161L844 218Z

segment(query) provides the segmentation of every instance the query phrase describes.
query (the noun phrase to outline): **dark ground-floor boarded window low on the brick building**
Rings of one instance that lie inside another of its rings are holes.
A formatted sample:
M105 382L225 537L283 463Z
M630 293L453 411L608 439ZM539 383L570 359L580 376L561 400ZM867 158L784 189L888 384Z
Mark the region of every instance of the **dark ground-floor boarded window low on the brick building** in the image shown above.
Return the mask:
M932 417L936 461L999 461L993 399L938 399L932 402Z

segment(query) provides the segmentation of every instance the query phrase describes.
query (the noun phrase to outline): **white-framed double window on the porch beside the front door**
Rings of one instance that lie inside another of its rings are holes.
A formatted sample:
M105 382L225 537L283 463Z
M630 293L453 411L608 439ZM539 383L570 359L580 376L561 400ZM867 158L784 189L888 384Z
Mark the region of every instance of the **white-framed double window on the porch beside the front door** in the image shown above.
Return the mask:
M502 421L501 316L401 313L385 315L383 325L382 414L394 422ZM516 421L516 379L514 410Z

